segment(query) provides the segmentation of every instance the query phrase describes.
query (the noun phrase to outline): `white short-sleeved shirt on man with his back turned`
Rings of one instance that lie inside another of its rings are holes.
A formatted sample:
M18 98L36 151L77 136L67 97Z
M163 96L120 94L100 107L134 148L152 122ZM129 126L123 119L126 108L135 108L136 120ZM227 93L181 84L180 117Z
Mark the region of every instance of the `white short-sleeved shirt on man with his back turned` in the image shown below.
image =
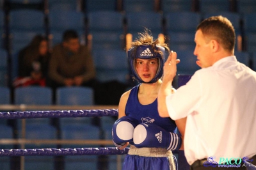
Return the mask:
M256 73L235 56L195 72L166 97L173 120L187 116L184 151L189 164L256 154Z

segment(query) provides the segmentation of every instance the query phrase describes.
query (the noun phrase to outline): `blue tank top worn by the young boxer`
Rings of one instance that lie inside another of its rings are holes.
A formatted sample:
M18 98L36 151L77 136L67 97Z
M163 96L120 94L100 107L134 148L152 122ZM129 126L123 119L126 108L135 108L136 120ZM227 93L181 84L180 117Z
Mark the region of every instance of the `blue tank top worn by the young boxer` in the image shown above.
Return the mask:
M161 118L157 111L157 98L152 104L142 105L138 100L140 84L131 89L131 93L125 106L126 116L135 118L140 123L154 123L168 132L176 128L175 121L171 118Z

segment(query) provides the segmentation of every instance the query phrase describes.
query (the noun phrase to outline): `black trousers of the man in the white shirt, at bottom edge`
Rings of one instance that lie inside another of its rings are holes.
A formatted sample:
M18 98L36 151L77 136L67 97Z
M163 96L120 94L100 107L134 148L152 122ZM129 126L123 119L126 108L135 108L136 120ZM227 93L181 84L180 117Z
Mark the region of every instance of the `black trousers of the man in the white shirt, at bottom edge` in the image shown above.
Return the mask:
M256 155L254 155L250 160L253 160L250 162L253 165L256 165ZM190 170L247 170L247 167L244 166L244 163L241 162L240 167L218 167L218 165L212 164L212 166L205 166L204 163L207 162L207 159L203 160L196 160L191 166ZM234 162L235 163L235 162Z

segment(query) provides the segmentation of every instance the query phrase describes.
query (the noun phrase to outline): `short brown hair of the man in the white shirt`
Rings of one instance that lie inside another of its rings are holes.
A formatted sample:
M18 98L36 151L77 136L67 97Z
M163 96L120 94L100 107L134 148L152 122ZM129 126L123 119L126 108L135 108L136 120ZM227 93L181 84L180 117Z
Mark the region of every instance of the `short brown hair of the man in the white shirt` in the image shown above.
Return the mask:
M236 34L230 20L226 17L214 16L203 20L197 27L204 36L214 38L226 50L234 50L236 43Z

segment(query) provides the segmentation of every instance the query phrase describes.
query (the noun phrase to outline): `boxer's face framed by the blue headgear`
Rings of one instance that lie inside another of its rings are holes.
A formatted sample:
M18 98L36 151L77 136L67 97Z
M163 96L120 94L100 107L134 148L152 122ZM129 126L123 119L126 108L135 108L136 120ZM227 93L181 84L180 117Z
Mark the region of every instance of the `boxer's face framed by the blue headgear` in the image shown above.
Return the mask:
M144 82L150 82L156 76L157 68L156 58L136 59L136 71Z

